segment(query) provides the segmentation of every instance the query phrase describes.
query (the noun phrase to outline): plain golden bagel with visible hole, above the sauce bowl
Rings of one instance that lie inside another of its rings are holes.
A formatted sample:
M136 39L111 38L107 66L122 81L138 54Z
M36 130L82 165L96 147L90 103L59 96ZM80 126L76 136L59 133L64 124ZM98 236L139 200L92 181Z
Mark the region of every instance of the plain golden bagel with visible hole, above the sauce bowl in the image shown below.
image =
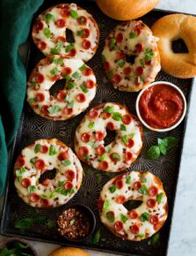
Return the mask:
M196 17L185 14L166 15L156 20L152 32L157 42L164 72L173 77L190 79L196 76ZM185 41L188 53L174 53L172 41Z

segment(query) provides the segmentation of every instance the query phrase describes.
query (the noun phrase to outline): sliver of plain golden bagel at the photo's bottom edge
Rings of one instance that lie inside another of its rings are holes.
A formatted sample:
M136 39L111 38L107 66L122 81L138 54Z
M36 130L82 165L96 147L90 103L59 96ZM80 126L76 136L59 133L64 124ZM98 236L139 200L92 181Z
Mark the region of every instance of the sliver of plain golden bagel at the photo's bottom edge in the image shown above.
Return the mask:
M79 248L62 247L51 252L48 256L90 256L90 254Z

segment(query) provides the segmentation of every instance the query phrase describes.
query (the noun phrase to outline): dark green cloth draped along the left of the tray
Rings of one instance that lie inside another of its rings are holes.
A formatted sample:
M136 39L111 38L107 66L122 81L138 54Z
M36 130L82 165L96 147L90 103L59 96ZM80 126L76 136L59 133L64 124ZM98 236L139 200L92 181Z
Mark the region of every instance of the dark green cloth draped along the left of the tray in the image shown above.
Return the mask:
M7 150L17 132L25 99L25 67L18 46L27 39L33 14L43 0L0 0L0 196L4 192Z

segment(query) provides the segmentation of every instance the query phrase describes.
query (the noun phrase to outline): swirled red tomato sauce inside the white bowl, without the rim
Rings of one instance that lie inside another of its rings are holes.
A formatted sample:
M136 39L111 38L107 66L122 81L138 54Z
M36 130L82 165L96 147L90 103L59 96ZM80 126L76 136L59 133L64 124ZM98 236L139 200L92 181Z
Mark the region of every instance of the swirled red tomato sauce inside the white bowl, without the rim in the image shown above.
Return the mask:
M165 129L178 123L183 114L184 101L177 89L159 84L143 92L139 109L142 119L150 127Z

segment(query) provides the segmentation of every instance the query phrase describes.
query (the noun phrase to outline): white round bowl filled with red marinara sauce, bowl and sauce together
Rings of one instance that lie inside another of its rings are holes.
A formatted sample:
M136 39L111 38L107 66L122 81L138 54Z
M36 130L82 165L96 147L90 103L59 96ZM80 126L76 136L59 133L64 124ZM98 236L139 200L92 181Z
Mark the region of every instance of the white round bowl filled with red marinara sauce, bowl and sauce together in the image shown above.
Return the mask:
M169 82L155 82L142 89L136 100L137 116L142 124L156 132L176 128L185 117L183 92Z

